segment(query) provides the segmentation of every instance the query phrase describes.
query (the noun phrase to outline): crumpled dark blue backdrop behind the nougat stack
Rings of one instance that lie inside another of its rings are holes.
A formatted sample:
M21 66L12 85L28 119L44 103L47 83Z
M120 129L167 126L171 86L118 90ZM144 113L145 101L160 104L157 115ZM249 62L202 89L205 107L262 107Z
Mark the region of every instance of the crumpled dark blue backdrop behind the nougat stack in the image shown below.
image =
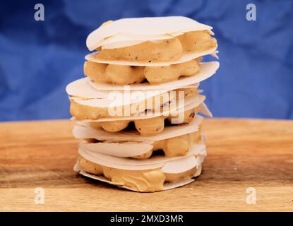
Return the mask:
M179 15L214 27L220 70L201 88L216 117L293 119L293 1L11 0L0 3L0 121L70 117L65 86L83 76L85 39L104 21Z

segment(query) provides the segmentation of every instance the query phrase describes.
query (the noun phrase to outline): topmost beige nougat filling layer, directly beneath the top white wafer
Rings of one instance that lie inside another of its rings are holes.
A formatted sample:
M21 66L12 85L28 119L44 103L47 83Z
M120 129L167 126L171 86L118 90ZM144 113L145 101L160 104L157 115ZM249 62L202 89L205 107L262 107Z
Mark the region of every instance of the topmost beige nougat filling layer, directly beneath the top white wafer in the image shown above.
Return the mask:
M176 61L186 52L201 53L217 46L209 30L185 32L167 40L147 41L129 47L101 49L97 59L124 61Z

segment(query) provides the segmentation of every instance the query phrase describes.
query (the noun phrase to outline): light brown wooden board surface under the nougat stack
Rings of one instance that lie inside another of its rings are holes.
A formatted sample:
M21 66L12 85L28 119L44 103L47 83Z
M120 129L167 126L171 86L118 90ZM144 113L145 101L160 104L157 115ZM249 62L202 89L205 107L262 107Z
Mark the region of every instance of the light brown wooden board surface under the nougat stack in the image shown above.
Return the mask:
M73 172L72 126L68 120L0 124L0 210L293 210L293 121L205 119L201 177L147 194Z

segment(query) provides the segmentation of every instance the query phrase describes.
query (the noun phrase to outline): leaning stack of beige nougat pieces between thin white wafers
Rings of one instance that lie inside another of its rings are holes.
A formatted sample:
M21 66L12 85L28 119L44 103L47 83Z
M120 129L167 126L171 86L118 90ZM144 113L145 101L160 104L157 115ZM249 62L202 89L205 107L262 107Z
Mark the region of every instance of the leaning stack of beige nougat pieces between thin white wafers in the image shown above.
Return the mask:
M66 87L85 177L140 192L201 174L201 124L211 113L201 81L218 69L212 27L181 16L124 18L88 35L85 78ZM208 173L208 172L206 172Z

